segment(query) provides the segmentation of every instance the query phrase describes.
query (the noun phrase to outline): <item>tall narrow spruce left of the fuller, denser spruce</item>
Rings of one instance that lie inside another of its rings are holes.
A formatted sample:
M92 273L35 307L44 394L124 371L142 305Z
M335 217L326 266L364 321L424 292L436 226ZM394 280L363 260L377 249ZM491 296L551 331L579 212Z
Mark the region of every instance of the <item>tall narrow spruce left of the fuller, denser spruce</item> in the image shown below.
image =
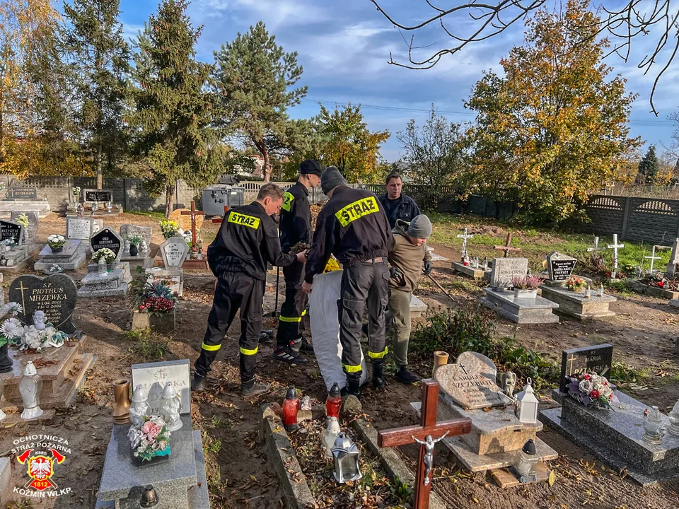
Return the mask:
M101 189L104 160L112 172L125 146L122 112L130 54L118 19L120 0L74 0L64 4L64 13L71 24L66 45L79 96L76 123Z

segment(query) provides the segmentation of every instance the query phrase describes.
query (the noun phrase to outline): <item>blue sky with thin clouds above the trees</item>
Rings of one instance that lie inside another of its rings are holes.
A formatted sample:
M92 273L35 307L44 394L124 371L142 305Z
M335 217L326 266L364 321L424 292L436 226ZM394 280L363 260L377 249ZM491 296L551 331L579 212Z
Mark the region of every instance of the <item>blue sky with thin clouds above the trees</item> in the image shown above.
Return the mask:
M429 9L424 0L382 3L403 23L421 21ZM156 0L121 0L126 34L136 35L156 9ZM304 67L300 83L309 87L308 95L289 111L291 116L317 115L319 100L327 107L349 101L361 103L370 129L389 129L392 133L382 151L388 160L400 154L397 131L405 129L410 118L422 124L431 103L452 121L472 120L474 115L464 109L463 100L468 98L482 70L498 71L499 60L511 47L523 42L523 23L519 21L502 35L444 57L434 69L412 71L388 64L390 52L395 58L404 57L407 46L401 33L369 0L194 0L188 13L195 25L204 25L197 51L198 58L206 62L212 62L212 52L233 40L238 32L244 33L250 25L264 21L286 51L298 52L298 62ZM472 28L468 17L448 24L458 30ZM404 36L410 38L408 34ZM415 40L416 45L431 45L426 52L447 43L448 36L439 27L418 33ZM650 71L643 76L643 71L637 69L637 63L652 45L654 40L646 37L635 42L628 64L616 56L608 57L607 63L615 73L627 78L627 90L639 93L632 110L632 135L657 144L658 152L662 152L660 144L670 144L674 131L666 117L679 110L679 58L656 90L654 103L660 112L656 117L649 112L649 91L655 74Z

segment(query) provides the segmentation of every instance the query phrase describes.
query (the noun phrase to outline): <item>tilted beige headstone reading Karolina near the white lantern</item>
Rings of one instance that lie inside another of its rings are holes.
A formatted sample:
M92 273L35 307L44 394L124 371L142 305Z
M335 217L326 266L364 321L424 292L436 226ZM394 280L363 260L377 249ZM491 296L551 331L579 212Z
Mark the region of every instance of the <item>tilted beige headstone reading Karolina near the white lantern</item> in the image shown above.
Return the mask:
M497 368L494 362L481 353L460 353L454 364L439 367L435 378L453 402L465 409L511 403L511 399L497 385Z

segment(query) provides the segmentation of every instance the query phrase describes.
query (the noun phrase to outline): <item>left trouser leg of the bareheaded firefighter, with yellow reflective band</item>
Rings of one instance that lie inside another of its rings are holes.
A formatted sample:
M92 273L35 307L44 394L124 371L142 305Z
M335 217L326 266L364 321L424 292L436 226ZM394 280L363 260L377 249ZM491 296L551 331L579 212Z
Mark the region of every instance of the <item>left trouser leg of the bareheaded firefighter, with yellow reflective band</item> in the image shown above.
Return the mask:
M240 295L236 289L240 274L227 273L219 278L214 286L212 309L207 317L207 330L200 349L200 356L195 362L195 372L199 376L207 376L210 365L216 358L221 342L226 336L228 327L236 316L240 306Z

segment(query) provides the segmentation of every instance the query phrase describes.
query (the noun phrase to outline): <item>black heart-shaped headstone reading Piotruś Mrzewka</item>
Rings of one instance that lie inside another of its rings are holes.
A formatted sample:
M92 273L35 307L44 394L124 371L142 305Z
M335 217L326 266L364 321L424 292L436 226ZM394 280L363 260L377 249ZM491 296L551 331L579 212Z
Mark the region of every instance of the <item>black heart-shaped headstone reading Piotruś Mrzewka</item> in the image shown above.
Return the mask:
M71 315L76 308L78 287L66 274L52 274L46 278L19 276L9 287L9 300L21 304L23 312L17 318L27 325L33 324L33 313L45 312L45 322L57 329L73 334L76 326Z

